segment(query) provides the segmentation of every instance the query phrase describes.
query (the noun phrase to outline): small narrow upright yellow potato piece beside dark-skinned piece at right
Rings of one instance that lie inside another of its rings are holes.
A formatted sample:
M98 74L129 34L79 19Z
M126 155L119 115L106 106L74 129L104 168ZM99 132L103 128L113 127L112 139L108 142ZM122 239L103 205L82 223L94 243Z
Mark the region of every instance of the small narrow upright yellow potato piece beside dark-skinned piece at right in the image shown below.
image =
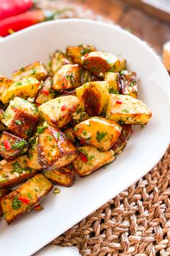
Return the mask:
M104 81L109 84L109 93L120 94L120 74L118 72L106 72Z

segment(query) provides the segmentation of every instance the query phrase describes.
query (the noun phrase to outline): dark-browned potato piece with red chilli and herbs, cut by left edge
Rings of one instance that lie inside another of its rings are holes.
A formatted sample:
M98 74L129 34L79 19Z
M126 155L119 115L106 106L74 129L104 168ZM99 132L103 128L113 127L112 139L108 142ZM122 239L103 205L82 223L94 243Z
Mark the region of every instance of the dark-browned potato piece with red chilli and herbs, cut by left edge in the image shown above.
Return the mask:
M6 159L14 159L27 152L28 143L12 133L4 131L0 136L0 155Z

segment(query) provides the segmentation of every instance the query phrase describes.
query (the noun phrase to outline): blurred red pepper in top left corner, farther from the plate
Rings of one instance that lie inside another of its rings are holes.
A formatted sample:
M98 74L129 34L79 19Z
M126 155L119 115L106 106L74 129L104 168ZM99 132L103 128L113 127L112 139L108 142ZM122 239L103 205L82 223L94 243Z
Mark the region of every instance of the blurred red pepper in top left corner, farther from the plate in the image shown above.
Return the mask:
M0 20L26 12L33 5L33 0L0 0Z

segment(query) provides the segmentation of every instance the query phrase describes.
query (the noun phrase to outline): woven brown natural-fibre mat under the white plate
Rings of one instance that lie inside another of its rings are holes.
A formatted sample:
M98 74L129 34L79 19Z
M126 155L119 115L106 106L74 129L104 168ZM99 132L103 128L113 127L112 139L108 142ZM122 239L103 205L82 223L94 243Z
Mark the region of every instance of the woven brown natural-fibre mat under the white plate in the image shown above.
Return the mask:
M68 8L58 12L58 18L103 20L66 1L43 0L39 6ZM76 246L83 256L170 255L170 147L151 172L52 244Z

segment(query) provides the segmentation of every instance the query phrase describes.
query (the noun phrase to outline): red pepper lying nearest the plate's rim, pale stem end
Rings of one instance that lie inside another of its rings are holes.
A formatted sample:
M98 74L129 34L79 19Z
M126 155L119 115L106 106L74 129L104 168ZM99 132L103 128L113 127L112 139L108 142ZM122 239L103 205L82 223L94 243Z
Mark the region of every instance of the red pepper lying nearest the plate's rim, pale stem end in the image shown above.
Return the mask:
M1 1L1 0L0 0ZM53 19L53 12L42 12L40 10L28 11L17 16L9 17L0 21L0 36L9 35L9 31L14 32L30 27L39 22Z

